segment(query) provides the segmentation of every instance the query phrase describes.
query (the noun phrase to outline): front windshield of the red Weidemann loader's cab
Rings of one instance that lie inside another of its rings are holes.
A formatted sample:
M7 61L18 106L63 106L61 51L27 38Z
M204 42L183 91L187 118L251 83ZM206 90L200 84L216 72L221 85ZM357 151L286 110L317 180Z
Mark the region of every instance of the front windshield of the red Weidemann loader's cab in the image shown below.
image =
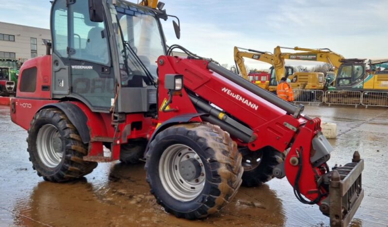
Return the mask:
M119 2L116 11L121 27L119 35L134 50L150 74L154 78L157 78L158 64L156 61L159 56L165 55L165 48L155 13L151 10L135 8ZM125 50L122 40L119 46L124 64ZM141 69L139 63L136 62L133 56L128 55L127 63L129 71L136 72L135 74L140 74L140 76L145 76L144 70ZM131 77L131 75L128 76Z

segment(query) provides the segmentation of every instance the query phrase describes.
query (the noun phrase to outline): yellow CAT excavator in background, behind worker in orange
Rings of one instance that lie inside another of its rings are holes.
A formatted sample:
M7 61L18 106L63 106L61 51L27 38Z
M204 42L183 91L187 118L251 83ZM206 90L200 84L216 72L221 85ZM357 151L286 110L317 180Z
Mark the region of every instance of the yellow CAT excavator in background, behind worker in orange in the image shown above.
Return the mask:
M236 63L236 68L240 68L241 75L247 79L248 74L244 64L244 57L263 61L272 65L270 78L265 81L265 83L256 83L261 88L264 88L270 92L276 91L278 81L280 81L282 77L291 79L291 86L294 89L320 90L324 87L323 73L294 72L293 67L285 66L284 59L292 58L288 58L288 56L283 55L280 47L275 48L274 54L241 47L234 47L234 61Z

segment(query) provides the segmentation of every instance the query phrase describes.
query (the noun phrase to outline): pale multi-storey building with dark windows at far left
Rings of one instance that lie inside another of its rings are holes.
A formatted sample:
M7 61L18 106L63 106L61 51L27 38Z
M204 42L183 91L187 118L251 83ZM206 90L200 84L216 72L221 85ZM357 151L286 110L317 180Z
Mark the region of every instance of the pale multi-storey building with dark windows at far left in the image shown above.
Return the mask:
M0 22L0 58L24 62L46 54L43 40L51 40L49 29Z

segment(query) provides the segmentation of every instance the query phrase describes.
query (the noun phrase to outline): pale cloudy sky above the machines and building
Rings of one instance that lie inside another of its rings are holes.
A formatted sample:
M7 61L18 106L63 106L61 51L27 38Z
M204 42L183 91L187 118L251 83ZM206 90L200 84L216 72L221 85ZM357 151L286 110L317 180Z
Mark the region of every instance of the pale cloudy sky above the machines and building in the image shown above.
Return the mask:
M182 31L177 40L172 22L163 23L168 44L181 44L220 63L234 63L234 46L269 52L277 45L330 48L347 58L388 57L388 0L164 2L167 13L179 17ZM49 0L0 0L0 5L0 21L49 28ZM269 67L253 60L246 63L251 68Z

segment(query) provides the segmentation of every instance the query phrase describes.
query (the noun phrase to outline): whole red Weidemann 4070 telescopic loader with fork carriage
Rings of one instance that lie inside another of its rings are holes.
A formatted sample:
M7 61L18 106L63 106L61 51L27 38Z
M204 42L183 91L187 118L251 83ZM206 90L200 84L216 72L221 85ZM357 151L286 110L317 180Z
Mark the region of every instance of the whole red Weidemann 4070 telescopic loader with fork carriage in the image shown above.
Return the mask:
M37 174L70 181L97 162L133 163L144 153L151 193L187 219L219 211L241 184L286 176L300 202L346 226L364 195L358 152L329 170L333 148L318 118L211 59L168 47L160 20L175 16L163 6L53 1L53 43L23 64L11 101ZM173 25L179 38L179 20ZM171 56L174 49L189 57Z

